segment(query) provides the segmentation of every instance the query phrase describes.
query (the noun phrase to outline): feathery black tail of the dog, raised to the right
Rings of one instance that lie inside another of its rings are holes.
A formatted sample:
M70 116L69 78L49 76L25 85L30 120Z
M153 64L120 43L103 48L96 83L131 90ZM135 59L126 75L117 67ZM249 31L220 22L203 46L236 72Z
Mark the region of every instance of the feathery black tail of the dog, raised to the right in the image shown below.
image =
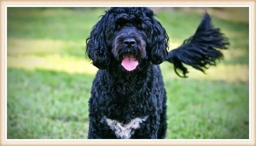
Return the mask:
M174 71L180 77L187 77L187 64L205 73L208 65L216 65L216 60L223 58L218 49L227 49L228 39L219 28L214 28L211 18L206 13L195 34L182 45L168 53L167 61L173 63ZM182 72L182 75L179 73Z

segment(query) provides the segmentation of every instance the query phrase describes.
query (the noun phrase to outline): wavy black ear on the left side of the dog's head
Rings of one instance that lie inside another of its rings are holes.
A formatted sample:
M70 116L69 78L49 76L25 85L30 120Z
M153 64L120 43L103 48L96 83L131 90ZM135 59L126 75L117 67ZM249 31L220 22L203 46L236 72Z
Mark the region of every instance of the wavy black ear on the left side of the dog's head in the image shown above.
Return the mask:
M105 16L91 30L86 39L86 54L99 69L106 69L110 62L110 54L105 42Z

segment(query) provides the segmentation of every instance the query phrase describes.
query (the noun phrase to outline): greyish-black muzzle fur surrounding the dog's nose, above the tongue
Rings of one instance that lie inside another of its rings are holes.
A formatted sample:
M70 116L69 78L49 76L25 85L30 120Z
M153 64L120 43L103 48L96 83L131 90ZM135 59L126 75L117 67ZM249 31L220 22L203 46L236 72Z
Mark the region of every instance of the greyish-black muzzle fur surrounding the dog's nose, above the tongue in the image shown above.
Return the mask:
M126 45L124 41L127 39L134 40L133 45ZM132 54L137 59L144 58L146 56L146 42L142 34L135 28L125 27L115 37L112 52L117 60L120 60L125 54Z

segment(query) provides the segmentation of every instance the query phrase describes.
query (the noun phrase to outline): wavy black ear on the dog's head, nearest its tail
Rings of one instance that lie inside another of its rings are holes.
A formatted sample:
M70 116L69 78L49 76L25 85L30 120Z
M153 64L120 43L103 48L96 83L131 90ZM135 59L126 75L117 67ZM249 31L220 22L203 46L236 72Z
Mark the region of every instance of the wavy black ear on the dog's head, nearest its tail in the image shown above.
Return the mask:
M167 48L169 37L165 28L153 16L151 18L152 27L152 40L150 45L150 59L153 64L161 64L167 58Z

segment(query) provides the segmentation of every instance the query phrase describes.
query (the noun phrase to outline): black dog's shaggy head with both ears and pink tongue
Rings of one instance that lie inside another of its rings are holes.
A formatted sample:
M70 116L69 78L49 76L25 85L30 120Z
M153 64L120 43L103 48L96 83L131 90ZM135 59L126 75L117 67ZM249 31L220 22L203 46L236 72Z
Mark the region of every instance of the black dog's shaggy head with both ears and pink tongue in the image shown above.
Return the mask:
M149 8L110 8L86 40L86 53L99 69L134 72L166 60L169 37Z

